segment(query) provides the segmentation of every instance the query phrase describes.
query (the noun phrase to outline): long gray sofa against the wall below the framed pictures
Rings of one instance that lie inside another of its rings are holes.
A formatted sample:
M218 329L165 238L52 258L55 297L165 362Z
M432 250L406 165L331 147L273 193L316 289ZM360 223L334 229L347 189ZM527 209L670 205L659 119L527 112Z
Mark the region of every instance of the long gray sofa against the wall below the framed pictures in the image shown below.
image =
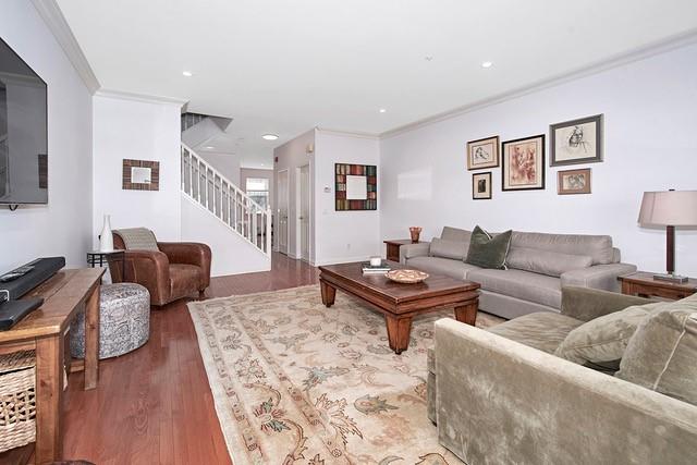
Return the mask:
M481 284L479 308L503 318L559 311L563 285L617 291L617 277L636 271L620 262L609 235L545 234L514 231L508 270L481 269L464 261L469 231L445 227L430 243L400 247L409 267Z

